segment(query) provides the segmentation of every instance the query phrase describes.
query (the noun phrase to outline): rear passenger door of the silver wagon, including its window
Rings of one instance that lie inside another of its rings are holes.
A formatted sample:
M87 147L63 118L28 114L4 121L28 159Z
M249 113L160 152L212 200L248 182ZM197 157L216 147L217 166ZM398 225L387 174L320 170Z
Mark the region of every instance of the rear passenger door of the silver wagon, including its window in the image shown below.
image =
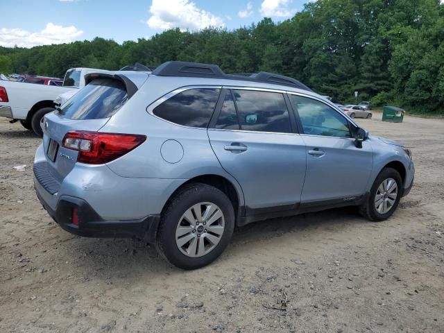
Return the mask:
M305 144L282 92L224 89L210 143L242 187L246 214L292 210L305 178Z

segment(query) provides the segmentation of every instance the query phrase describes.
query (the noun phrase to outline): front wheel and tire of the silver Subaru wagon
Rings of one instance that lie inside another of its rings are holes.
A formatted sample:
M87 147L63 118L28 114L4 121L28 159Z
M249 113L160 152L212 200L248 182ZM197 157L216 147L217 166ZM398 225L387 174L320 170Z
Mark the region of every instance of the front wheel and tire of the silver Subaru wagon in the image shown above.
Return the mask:
M384 185L384 182L387 186ZM368 199L359 206L359 214L375 222L388 219L398 207L402 191L400 173L392 168L383 169L373 182ZM384 200L386 200L387 206L384 206Z

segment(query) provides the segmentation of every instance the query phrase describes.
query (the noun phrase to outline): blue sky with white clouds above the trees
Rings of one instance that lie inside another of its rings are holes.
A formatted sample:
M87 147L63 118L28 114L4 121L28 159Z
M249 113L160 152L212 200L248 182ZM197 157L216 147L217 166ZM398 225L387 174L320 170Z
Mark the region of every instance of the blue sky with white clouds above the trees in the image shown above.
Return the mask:
M104 37L123 42L165 29L248 26L292 17L309 0L0 0L0 45L32 47Z

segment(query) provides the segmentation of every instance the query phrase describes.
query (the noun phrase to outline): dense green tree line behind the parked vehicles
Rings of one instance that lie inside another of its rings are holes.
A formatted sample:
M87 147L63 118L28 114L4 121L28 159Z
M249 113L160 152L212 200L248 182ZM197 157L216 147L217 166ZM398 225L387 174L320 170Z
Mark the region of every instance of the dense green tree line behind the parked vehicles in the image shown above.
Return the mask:
M0 47L0 72L61 77L71 67L206 62L227 73L271 71L336 101L444 113L444 5L439 0L318 0L291 19L228 31L171 29L118 44L100 37Z

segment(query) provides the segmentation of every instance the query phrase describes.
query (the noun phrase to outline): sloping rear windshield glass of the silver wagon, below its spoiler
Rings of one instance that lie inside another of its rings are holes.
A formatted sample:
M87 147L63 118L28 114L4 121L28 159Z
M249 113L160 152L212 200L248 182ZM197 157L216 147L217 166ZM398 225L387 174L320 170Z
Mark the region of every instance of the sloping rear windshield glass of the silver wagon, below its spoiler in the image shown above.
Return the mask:
M123 83L110 78L97 78L62 105L58 113L74 120L103 119L115 114L126 101L128 94Z

